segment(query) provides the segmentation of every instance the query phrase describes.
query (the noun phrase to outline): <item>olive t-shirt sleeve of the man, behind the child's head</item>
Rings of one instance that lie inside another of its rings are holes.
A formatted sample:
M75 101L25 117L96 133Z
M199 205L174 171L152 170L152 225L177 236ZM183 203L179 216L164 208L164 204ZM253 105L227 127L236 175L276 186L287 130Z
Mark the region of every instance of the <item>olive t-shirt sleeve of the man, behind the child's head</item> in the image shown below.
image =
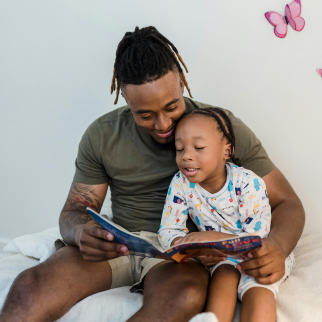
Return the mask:
M232 121L236 140L234 156L240 159L245 169L253 171L256 175L263 177L269 174L275 165L268 157L260 140L241 119L236 118L228 110L224 111Z

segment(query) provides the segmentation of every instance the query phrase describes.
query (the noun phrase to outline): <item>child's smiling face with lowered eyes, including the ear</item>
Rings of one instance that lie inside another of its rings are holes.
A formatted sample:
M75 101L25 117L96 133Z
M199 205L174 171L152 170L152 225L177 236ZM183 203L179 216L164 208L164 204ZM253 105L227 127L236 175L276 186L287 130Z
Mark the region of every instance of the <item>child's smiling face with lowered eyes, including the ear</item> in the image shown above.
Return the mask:
M231 144L217 130L217 122L199 115L187 116L179 122L175 147L175 161L192 183L206 183L222 175L231 153Z

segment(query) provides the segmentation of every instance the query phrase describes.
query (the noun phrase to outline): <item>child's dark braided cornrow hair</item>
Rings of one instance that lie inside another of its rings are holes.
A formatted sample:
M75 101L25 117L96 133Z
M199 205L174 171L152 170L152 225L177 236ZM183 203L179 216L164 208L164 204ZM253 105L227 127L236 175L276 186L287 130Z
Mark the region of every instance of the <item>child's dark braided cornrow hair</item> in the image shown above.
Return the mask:
M222 110L215 107L207 107L204 109L194 109L188 113L185 113L182 118L185 118L188 115L202 115L207 118L213 118L216 120L218 126L217 130L223 133L223 136L228 139L228 142L231 143L231 150L232 153L229 157L232 159L232 162L237 166L242 166L239 162L238 158L234 157L234 150L235 150L235 135L232 129L232 122L227 114ZM182 119L181 118L181 119Z

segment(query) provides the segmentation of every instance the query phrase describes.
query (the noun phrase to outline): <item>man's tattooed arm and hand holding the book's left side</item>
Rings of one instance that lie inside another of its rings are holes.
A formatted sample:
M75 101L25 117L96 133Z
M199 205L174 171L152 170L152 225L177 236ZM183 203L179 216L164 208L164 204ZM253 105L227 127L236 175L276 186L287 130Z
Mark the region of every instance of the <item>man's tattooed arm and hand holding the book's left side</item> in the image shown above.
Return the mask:
M108 184L86 185L73 181L66 203L59 218L62 238L71 246L80 248L88 261L110 260L129 255L126 246L113 241L114 236L98 228L86 208L100 212Z

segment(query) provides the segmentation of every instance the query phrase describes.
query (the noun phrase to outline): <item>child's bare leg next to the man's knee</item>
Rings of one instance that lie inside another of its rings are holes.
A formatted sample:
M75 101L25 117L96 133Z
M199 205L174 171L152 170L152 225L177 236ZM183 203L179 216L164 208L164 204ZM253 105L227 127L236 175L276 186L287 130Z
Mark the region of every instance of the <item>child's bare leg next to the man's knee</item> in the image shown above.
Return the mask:
M213 272L205 311L216 314L219 322L231 322L234 317L239 277L239 270L230 264L222 264Z

